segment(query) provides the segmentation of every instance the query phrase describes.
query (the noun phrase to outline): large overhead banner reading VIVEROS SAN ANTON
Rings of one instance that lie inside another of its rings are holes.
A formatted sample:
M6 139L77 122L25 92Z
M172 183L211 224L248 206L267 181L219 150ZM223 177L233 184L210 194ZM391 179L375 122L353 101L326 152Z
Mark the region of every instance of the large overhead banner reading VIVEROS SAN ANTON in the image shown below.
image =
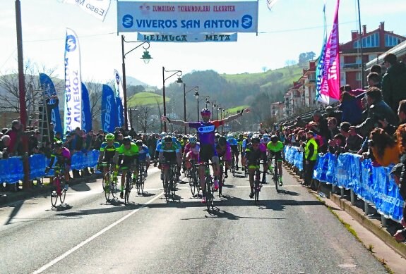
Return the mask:
M258 2L117 1L118 32L257 32Z

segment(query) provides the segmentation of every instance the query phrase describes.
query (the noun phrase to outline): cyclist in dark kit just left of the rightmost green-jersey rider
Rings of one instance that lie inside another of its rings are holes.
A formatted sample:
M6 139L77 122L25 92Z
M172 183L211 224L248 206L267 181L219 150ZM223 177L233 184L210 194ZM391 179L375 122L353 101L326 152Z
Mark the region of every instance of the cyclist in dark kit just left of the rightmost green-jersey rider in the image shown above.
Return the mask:
M251 187L250 198L253 198L253 176L255 175L256 168L259 168L258 162L261 160L266 161L266 153L259 149L259 142L259 138L254 137L245 149L246 166L249 170L249 186Z

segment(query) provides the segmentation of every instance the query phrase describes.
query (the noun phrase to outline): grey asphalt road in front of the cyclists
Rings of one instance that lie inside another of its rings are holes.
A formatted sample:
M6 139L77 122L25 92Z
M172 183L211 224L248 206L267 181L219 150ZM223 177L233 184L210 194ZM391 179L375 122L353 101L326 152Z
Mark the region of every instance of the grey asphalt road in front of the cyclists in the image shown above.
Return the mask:
M284 171L282 192L264 185L259 206L247 179L230 176L210 213L186 183L167 204L157 168L127 206L107 203L101 180L74 185L57 211L49 195L9 204L0 273L386 273Z

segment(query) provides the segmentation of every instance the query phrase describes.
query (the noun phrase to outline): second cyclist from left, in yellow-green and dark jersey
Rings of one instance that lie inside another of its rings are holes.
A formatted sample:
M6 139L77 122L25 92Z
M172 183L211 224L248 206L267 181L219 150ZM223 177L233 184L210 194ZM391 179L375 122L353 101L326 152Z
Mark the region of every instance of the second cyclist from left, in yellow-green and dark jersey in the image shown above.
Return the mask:
M117 162L119 160L119 142L114 142L114 134L108 133L105 137L106 142L103 142L100 146L100 156L99 160L97 161L98 166L100 163L106 162L107 165L110 163L115 163L113 166L113 180L117 183ZM107 172L107 166L103 166L103 178L105 178L105 174Z

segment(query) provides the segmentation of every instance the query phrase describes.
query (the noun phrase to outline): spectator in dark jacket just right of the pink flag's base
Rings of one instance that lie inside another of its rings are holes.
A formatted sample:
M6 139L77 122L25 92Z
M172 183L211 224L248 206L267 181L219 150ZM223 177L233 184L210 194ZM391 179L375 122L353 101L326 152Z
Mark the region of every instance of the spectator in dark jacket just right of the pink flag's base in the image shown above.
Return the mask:
M342 112L342 122L348 122L351 125L362 122L362 108L359 107L355 96L349 92L342 92L338 109Z

